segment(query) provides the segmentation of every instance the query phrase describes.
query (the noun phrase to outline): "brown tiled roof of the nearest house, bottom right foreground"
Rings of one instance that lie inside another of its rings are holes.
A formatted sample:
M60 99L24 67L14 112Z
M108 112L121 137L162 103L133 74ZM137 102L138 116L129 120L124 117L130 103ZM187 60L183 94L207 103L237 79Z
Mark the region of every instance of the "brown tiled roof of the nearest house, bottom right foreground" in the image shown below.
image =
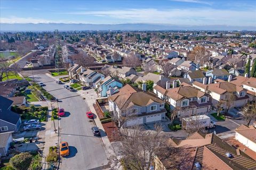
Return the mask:
M213 133L195 132L184 140L170 138L168 143L170 147L179 148L180 152L157 155L154 162L156 170L170 167L192 170L252 170L256 168L256 160ZM163 149L163 151L166 150L168 149Z

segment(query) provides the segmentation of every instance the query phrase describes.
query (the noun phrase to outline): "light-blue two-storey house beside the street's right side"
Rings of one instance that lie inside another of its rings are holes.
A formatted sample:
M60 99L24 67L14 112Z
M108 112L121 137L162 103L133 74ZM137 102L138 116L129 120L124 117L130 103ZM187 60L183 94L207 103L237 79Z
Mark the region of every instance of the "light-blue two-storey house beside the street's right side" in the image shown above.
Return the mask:
M121 81L109 75L108 77L100 81L99 92L101 94L101 97L107 97L115 94L116 92L119 91L119 88L122 88L122 87L123 87L123 84Z

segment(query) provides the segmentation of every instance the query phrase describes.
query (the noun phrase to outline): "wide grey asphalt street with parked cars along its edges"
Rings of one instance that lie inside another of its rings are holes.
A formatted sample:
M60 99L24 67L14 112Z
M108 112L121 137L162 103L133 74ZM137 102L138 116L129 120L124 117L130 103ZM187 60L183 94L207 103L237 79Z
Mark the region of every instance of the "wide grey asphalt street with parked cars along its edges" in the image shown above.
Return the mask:
M61 141L68 142L70 155L61 159L60 169L105 169L106 152L101 138L92 134L94 122L89 122L85 115L89 111L85 101L45 74L34 77L46 84L44 88L57 97L60 107L65 109L66 116L60 119L60 136Z

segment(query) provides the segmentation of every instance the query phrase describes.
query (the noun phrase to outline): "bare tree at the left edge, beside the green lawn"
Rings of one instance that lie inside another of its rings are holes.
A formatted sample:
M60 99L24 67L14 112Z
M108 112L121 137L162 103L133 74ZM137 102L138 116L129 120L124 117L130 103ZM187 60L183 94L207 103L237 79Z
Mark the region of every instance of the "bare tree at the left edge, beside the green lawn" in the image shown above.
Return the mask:
M9 78L10 74L17 75L20 71L18 64L14 63L12 66L9 66L8 63L0 63L0 81L3 81L4 78Z

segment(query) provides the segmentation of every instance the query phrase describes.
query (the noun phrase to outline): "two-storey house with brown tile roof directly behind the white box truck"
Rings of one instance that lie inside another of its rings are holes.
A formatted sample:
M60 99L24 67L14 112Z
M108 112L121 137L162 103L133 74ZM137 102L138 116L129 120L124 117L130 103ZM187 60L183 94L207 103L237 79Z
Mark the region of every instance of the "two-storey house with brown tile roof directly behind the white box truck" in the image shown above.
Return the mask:
M173 87L175 87L175 81ZM167 85L166 85L167 86ZM154 87L154 93L170 105L170 109L177 109L177 117L205 114L210 111L210 95L202 92L189 84L182 83L180 87L164 89Z

